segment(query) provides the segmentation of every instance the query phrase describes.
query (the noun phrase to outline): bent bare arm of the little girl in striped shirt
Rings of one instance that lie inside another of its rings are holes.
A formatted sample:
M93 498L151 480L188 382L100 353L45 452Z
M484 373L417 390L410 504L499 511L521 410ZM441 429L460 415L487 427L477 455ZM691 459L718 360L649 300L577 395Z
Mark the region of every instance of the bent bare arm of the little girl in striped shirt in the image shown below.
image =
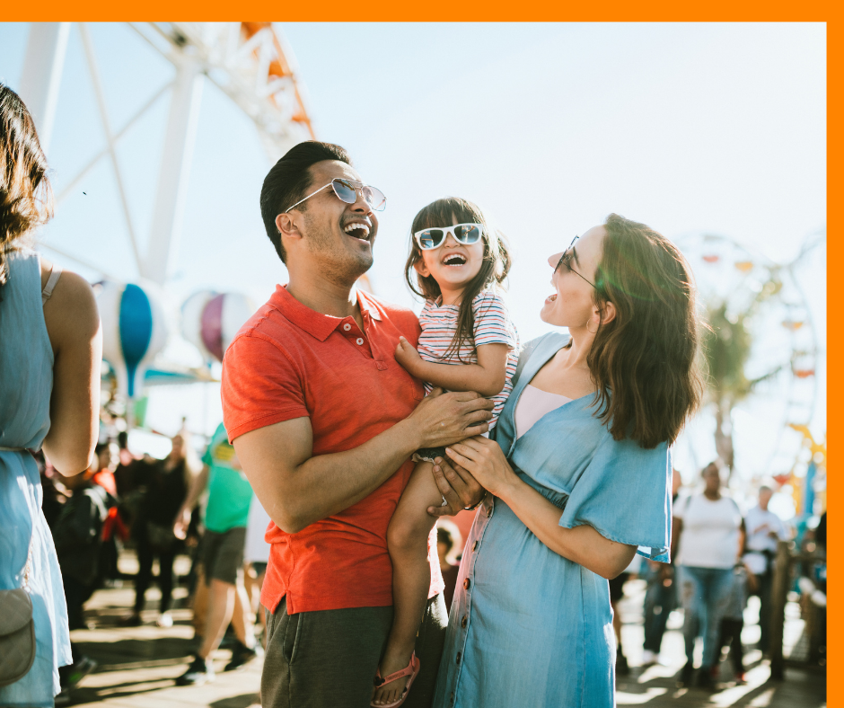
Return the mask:
M409 374L448 391L475 391L482 396L500 394L506 383L507 345L481 344L477 364L434 364L425 361L404 337L396 347L396 361Z

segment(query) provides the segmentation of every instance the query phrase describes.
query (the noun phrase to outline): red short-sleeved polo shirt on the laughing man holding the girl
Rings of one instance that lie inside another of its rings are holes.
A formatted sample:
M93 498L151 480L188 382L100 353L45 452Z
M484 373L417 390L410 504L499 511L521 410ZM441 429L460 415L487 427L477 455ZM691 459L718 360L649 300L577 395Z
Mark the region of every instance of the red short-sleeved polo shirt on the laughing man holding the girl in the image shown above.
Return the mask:
M313 454L330 455L408 417L422 400L422 385L393 353L400 336L416 345L416 315L360 291L358 303L363 332L354 317L315 312L277 286L225 352L221 393L230 440L307 416ZM387 525L412 471L408 460L368 497L297 534L270 522L261 604L275 612L286 596L291 615L391 605ZM444 587L435 531L428 560L433 597Z

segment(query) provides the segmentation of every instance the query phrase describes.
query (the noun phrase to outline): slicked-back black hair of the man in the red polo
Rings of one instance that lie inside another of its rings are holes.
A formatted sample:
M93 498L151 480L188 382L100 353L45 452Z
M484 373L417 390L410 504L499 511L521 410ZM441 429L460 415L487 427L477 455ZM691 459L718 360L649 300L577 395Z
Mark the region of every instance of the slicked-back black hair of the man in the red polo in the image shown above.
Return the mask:
M291 147L264 178L264 186L260 190L260 215L269 240L283 263L287 262L287 254L281 243L281 234L278 233L276 217L307 196L313 186L311 165L324 160L352 164L352 159L342 147L308 140ZM304 211L305 208L307 202L303 203L300 210Z

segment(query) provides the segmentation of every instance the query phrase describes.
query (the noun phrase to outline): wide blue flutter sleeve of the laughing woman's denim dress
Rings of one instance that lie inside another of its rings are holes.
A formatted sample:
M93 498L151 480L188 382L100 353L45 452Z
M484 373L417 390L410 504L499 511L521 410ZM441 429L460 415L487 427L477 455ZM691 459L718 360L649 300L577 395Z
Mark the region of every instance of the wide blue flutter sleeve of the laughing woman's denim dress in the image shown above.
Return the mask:
M669 562L671 478L666 444L646 450L608 435L574 483L559 525L586 524L604 538L637 546L646 558Z

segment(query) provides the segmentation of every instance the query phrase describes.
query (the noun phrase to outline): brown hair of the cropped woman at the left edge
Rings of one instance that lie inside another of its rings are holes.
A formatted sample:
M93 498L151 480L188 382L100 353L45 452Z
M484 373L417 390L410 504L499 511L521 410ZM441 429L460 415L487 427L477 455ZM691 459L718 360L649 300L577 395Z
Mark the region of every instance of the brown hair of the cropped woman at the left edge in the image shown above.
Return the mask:
M30 111L17 93L0 84L0 287L9 276L6 254L53 216L47 171Z

